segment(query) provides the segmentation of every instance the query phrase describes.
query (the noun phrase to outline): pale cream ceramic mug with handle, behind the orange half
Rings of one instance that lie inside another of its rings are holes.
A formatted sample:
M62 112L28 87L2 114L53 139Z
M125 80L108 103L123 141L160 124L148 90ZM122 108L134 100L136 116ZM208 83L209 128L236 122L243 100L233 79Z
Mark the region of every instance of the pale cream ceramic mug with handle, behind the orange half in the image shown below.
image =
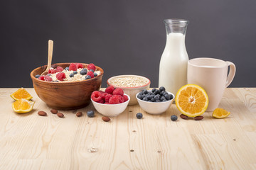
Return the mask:
M228 67L230 71L228 74ZM218 108L225 88L235 77L235 64L214 58L188 60L188 84L197 84L206 90L209 104L206 111Z

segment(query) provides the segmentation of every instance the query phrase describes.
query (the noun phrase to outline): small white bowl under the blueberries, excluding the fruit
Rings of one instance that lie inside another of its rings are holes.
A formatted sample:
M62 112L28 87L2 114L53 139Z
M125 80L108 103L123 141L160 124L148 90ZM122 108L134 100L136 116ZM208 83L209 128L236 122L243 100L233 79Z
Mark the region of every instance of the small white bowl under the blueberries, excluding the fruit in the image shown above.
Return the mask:
M171 94L169 91L166 91L168 94ZM136 94L136 98L139 93ZM175 96L174 96L175 98ZM143 111L146 111L146 113L152 114L152 115L159 115L161 113L164 113L167 111L167 109L171 106L171 103L174 101L174 98L172 98L169 101L164 102L149 102L149 101L142 101L141 99L137 98L137 101L139 103L139 106L142 108Z

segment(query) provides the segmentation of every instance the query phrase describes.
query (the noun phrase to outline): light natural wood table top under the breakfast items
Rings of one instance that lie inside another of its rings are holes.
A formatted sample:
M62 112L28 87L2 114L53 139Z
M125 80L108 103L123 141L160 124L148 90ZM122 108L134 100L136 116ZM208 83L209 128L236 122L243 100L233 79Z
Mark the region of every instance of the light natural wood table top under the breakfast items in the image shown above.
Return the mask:
M256 169L256 88L225 90L219 107L228 118L204 113L203 120L176 122L175 104L161 115L128 106L110 122L100 113L88 118L92 105L58 118L34 89L26 89L33 111L17 114L10 97L16 90L0 89L0 169Z

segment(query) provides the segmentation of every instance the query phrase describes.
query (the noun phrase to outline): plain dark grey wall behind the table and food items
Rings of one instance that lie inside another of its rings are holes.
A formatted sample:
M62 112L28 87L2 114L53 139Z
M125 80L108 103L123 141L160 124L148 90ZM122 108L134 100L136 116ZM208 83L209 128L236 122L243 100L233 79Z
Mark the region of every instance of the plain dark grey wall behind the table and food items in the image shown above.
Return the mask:
M188 57L234 62L230 86L256 85L256 1L1 1L1 87L32 87L30 72L47 64L84 62L102 67L108 78L139 74L158 86L166 42L163 20L190 21Z

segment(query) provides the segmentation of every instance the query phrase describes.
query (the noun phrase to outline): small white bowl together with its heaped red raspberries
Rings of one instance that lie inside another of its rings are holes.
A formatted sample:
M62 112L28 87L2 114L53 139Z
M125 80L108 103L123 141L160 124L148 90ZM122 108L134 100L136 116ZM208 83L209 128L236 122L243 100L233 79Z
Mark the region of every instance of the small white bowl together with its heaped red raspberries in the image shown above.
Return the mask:
M93 91L91 101L96 111L102 115L113 117L124 112L130 97L124 91L114 86L108 86L105 91Z

